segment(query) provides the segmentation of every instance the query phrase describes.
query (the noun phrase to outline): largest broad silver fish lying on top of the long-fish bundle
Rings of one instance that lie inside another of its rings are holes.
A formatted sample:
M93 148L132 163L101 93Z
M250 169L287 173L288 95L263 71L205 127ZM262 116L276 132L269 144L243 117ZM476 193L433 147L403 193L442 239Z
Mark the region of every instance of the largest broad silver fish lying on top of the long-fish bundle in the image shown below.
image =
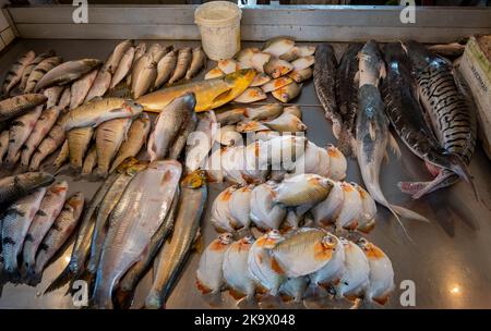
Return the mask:
M94 285L93 305L112 307L112 291L139 261L164 222L179 185L181 164L157 161L136 174L110 217ZM189 209L189 208L187 208Z

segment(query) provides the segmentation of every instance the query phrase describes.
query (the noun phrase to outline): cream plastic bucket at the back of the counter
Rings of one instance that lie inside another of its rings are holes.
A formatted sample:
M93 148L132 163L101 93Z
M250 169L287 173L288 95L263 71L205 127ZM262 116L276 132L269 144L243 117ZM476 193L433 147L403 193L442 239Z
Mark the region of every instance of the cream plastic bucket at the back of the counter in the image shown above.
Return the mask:
M232 58L240 50L242 11L232 2L213 1L200 5L194 22L206 56L215 61Z

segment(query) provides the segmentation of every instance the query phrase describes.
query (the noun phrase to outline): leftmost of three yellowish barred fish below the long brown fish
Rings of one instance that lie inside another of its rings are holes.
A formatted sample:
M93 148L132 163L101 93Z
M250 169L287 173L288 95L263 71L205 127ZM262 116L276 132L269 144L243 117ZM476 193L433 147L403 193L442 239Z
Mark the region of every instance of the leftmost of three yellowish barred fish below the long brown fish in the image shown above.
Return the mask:
M69 143L70 167L80 172L82 169L84 157L91 145L94 127L76 127L67 132L67 140Z

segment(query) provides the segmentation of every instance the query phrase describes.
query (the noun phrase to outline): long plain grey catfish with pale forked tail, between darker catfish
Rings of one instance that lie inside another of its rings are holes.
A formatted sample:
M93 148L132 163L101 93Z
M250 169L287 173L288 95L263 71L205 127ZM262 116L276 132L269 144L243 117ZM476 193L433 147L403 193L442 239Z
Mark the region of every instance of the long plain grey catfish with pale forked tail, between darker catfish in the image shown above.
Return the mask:
M391 210L400 224L399 216L427 221L424 217L409 209L391 205L380 187L380 169L388 142L388 120L384 113L384 103L378 85L380 77L385 74L385 65L379 46L373 40L369 40L363 46L359 58L360 88L358 91L356 149L367 191L375 201ZM404 226L403 229L405 230Z

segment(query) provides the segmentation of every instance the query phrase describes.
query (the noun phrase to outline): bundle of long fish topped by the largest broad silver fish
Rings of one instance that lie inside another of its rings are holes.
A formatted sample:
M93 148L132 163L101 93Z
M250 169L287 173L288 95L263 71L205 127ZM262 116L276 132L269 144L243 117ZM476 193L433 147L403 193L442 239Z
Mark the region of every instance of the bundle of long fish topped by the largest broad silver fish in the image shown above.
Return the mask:
M199 236L207 186L175 160L127 159L89 201L67 268L46 292L85 280L91 306L129 308L154 263L147 308L161 308ZM69 287L71 289L71 286Z

